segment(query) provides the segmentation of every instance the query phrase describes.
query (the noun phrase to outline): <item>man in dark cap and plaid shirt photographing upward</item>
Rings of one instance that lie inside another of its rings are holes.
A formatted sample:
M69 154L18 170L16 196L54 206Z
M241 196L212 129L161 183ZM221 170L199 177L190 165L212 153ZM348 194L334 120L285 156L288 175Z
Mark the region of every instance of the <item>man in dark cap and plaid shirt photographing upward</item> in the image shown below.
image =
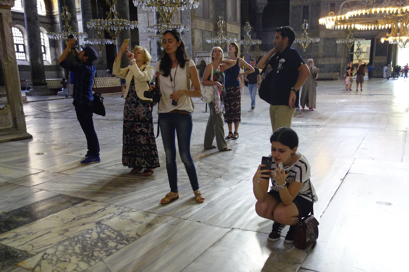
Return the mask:
M75 48L76 38L69 39L67 48L58 59L58 64L64 69L74 73L74 101L75 112L79 124L87 138L88 152L85 155L85 160L81 164L91 164L101 162L99 158L99 142L97 133L94 129L94 121L92 120L92 112L94 108L94 97L92 95L92 85L94 85L94 74L97 71L92 63L98 58L98 54L94 48L81 45L82 51L78 52ZM71 63L66 60L68 52L72 50L77 63Z

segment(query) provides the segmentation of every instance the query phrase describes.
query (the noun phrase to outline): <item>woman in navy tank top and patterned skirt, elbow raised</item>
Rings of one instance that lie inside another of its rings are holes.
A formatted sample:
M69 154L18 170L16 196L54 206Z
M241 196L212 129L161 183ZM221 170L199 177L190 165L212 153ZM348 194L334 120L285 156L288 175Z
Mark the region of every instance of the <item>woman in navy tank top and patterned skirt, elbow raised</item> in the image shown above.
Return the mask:
M243 58L238 57L238 45L237 43L230 43L227 47L229 51L229 58L236 61L236 64L225 71L225 89L226 94L223 98L225 103L226 113L224 114L225 123L229 127L229 135L225 139L237 139L238 138L238 124L241 122L241 91L240 76L250 74L254 72L252 65L249 65ZM240 73L240 67L246 67L247 71ZM234 133L232 132L232 123L234 123Z

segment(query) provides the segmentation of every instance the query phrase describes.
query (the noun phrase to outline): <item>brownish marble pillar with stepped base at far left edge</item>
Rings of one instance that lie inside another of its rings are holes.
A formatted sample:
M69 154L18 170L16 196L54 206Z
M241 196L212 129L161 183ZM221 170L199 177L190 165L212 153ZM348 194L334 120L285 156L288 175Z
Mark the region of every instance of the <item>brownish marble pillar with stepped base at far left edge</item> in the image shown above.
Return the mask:
M0 59L2 60L0 68L4 75L7 94L7 105L0 110L0 142L33 138L26 129L16 51L14 51L11 34L13 23L11 7L13 6L14 0L0 0Z

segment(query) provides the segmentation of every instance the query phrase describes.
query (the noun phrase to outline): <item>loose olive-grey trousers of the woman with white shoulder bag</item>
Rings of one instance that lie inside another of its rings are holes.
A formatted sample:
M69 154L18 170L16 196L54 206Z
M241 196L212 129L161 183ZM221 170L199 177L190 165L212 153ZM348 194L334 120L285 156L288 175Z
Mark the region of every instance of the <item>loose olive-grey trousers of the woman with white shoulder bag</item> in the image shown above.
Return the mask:
M223 117L222 112L216 114L213 102L207 104L209 106L209 120L207 121L206 131L205 131L205 142L203 146L205 148L211 148L213 144L213 139L216 136L217 149L222 150L227 148L225 140L225 130L223 128Z

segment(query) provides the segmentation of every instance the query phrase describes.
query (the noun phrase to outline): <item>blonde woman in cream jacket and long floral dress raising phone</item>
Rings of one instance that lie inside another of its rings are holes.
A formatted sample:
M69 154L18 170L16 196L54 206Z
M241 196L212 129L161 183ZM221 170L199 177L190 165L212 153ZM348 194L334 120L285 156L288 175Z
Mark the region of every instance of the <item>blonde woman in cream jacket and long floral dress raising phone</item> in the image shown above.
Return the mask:
M146 168L143 176L152 175L155 168L160 167L159 157L153 129L151 99L144 97L155 69L148 66L151 54L140 46L129 52L128 44L122 44L112 68L115 76L126 80L124 92L124 133L122 148L122 164L137 173ZM121 56L126 52L130 65L121 68Z

